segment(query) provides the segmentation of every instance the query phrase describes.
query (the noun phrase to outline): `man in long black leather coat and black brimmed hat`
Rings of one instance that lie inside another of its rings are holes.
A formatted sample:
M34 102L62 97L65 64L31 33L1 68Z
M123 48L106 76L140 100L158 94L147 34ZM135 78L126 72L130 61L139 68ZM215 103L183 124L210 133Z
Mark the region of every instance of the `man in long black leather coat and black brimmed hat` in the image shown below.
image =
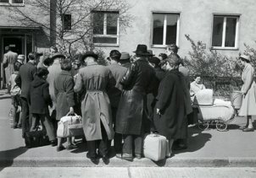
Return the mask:
M131 63L125 76L120 80L124 91L117 111L116 131L124 136L121 159L133 159L133 145L137 159L142 158L142 135L145 129L145 107L147 94L156 81L153 67L149 66L146 45L136 48L135 62Z

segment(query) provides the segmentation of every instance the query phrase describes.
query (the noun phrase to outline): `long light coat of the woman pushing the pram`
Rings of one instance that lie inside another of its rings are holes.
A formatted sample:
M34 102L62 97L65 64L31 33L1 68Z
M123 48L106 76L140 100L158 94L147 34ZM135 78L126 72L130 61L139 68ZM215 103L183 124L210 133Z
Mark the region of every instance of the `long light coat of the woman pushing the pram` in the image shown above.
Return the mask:
M242 97L242 105L239 116L256 116L256 84L253 81L254 69L251 64L246 63L242 71L242 89L246 93Z

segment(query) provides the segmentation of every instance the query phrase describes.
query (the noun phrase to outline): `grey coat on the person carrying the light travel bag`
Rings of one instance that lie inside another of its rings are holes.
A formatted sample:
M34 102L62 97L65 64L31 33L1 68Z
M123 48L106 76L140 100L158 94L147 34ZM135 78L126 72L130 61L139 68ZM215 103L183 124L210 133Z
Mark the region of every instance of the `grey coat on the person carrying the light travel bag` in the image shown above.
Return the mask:
M75 106L74 80L68 71L62 71L54 81L54 94L56 96L56 120L66 116L70 107Z

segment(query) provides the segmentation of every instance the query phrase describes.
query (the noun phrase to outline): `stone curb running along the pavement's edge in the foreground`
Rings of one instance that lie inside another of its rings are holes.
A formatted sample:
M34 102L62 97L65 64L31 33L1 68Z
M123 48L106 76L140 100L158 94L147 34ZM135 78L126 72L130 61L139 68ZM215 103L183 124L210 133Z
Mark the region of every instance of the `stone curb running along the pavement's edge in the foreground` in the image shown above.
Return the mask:
M256 167L256 157L253 158L176 158L154 162L150 159L134 159L133 162L112 158L105 165L102 160L98 165L90 159L81 157L42 157L0 159L0 167Z

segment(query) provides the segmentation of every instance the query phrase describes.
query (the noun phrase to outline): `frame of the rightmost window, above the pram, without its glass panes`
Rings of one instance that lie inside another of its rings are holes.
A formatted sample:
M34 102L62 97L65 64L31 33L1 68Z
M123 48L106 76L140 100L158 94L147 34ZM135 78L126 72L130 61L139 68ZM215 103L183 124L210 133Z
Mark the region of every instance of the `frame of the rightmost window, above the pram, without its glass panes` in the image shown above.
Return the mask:
M221 46L213 46L213 35L214 35L214 17L223 17L223 29L222 29L222 41ZM225 46L225 31L226 31L226 19L227 18L236 18L237 24L236 24L236 35L235 35L235 46ZM240 19L241 14L225 14L225 13L213 13L213 19L212 19L212 34L211 34L211 49L212 50L239 50L238 41L239 41L239 28L240 28Z

